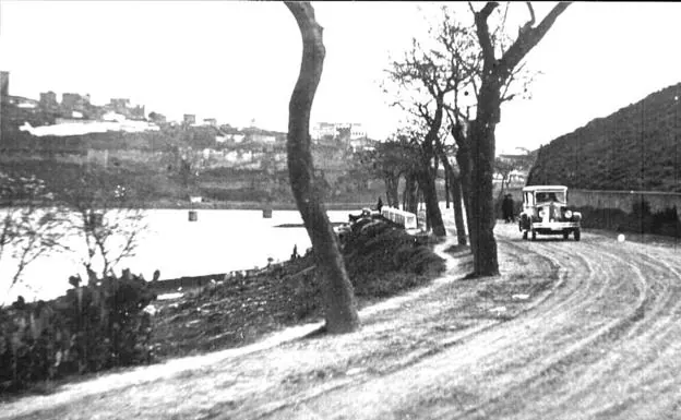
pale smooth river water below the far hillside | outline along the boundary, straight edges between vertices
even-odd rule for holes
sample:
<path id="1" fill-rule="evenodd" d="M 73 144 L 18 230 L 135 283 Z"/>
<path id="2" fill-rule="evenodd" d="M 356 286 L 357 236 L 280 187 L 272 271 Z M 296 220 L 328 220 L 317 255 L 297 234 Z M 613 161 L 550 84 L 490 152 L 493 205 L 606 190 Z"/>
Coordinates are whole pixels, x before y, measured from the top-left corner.
<path id="1" fill-rule="evenodd" d="M 140 236 L 135 254 L 122 260 L 117 274 L 129 267 L 135 274 L 152 279 L 155 269 L 160 279 L 200 276 L 237 269 L 262 267 L 267 259 L 288 260 L 294 245 L 300 254 L 310 247 L 302 227 L 277 227 L 301 224 L 297 211 L 274 211 L 263 218 L 261 211 L 199 209 L 198 220 L 189 221 L 188 209 L 151 209 L 144 212 L 146 228 Z M 347 221 L 353 211 L 328 211 L 331 221 Z M 0 267 L 0 303 L 7 304 L 19 295 L 27 301 L 51 299 L 71 286 L 69 276 L 80 274 L 86 279 L 83 257 L 86 249 L 82 239 L 65 238 L 74 251 L 43 255 L 24 272 L 22 281 L 9 288 L 12 262 L 3 259 Z"/>

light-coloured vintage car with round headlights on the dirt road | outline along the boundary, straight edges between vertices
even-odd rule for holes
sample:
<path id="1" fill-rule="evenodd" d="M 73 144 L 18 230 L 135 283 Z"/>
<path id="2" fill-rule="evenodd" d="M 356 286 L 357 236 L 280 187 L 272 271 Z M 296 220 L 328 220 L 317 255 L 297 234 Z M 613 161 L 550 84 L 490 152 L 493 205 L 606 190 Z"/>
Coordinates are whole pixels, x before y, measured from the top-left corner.
<path id="1" fill-rule="evenodd" d="M 568 239 L 574 233 L 575 241 L 581 237 L 582 214 L 568 207 L 568 187 L 563 185 L 533 185 L 523 189 L 523 213 L 518 228 L 523 239 L 531 233 L 531 240 L 537 235 L 562 235 Z"/>

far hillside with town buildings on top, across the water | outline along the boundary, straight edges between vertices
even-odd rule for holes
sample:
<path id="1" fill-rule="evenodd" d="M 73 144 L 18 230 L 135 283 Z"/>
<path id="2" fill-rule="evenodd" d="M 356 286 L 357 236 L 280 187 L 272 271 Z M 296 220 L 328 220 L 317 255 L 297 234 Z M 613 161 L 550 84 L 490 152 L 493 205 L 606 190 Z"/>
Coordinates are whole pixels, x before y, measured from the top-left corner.
<path id="1" fill-rule="evenodd" d="M 202 121 L 187 113 L 170 121 L 128 98 L 92 104 L 89 95 L 10 94 L 1 72 L 0 148 L 5 168 L 44 178 L 55 191 L 83 169 L 132 185 L 141 206 L 182 206 L 201 201 L 292 203 L 286 166 L 286 133 Z M 374 201 L 382 185 L 360 170 L 358 153 L 375 143 L 361 123 L 321 122 L 312 128 L 312 153 L 328 199 Z M 50 168 L 40 165 L 49 160 Z M 49 171 L 49 173 L 48 173 Z M 58 176 L 55 177 L 55 173 Z"/>

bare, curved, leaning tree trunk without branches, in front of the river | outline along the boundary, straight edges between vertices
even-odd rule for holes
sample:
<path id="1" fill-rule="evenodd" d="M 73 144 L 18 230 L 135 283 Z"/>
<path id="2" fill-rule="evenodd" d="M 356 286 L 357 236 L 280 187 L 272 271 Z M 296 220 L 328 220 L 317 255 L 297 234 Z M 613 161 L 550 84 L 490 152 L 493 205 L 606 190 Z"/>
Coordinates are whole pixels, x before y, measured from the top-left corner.
<path id="1" fill-rule="evenodd" d="M 300 74 L 289 103 L 286 148 L 290 184 L 321 276 L 326 331 L 348 333 L 359 328 L 357 304 L 336 235 L 314 185 L 310 152 L 310 110 L 325 55 L 322 27 L 316 23 L 310 3 L 287 2 L 286 5 L 296 17 L 302 36 Z"/>

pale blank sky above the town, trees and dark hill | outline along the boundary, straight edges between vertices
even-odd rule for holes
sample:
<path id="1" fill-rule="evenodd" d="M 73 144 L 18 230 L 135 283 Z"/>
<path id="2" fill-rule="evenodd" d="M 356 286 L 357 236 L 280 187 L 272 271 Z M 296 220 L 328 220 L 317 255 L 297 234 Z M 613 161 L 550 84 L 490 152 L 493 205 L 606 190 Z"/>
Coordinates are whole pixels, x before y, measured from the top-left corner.
<path id="1" fill-rule="evenodd" d="M 382 93 L 391 57 L 427 27 L 414 2 L 313 2 L 326 58 L 312 122 L 359 122 L 385 139 L 401 115 Z M 440 3 L 430 3 L 438 7 Z M 476 8 L 480 5 L 474 3 Z M 551 3 L 536 3 L 541 19 Z M 527 17 L 524 3 L 510 10 Z M 457 9 L 470 19 L 467 8 Z M 537 148 L 681 82 L 681 3 L 576 2 L 526 57 L 531 99 L 504 104 L 498 153 Z M 130 98 L 179 120 L 286 131 L 301 40 L 282 3 L 0 0 L 0 70 L 10 94 Z"/>

